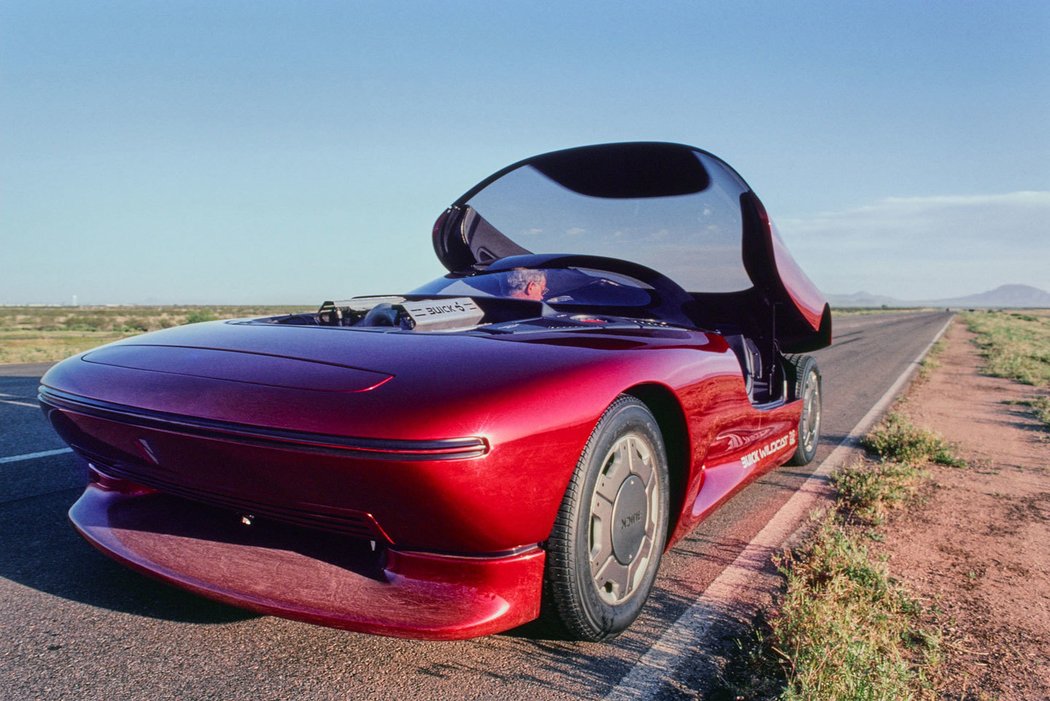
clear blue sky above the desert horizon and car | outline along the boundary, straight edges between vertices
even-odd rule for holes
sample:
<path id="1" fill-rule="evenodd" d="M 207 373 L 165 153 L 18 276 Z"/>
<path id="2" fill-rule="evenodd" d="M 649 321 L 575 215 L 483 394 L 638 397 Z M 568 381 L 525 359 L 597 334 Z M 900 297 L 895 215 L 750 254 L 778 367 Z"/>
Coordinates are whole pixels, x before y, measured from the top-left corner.
<path id="1" fill-rule="evenodd" d="M 706 148 L 828 293 L 1050 289 L 1050 3 L 0 4 L 0 303 L 441 275 L 521 157 Z"/>

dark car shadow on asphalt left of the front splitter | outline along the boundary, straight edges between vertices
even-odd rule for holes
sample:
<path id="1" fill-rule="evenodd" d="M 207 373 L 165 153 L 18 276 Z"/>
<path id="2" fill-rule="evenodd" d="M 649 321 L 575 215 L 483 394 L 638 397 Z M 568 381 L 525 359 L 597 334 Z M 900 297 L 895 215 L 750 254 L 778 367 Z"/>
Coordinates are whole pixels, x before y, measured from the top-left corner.
<path id="1" fill-rule="evenodd" d="M 0 506 L 0 577 L 100 609 L 191 623 L 256 614 L 183 592 L 121 567 L 85 543 L 66 518 L 80 489 Z"/>

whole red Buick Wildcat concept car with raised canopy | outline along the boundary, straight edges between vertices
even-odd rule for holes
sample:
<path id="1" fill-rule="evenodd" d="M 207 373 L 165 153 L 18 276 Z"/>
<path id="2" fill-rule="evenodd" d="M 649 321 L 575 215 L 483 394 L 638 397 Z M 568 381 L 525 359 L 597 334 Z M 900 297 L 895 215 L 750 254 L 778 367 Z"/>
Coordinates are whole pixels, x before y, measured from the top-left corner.
<path id="1" fill-rule="evenodd" d="M 207 597 L 466 638 L 637 617 L 663 552 L 820 430 L 831 311 L 758 197 L 675 144 L 514 164 L 434 227 L 445 277 L 70 358 L 40 402 L 69 517 Z M 786 355 L 791 354 L 791 355 Z"/>

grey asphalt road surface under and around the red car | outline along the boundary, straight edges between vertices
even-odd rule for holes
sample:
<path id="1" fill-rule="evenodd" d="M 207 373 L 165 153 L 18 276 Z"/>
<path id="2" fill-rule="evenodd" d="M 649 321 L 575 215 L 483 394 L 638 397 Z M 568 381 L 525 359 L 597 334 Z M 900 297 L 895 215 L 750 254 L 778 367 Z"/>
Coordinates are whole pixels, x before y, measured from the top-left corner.
<path id="1" fill-rule="evenodd" d="M 825 456 L 941 328 L 941 313 L 848 316 L 815 354 Z M 525 626 L 457 642 L 357 635 L 257 616 L 132 573 L 84 543 L 65 513 L 69 453 L 36 407 L 46 366 L 0 366 L 0 698 L 600 698 L 731 562 L 811 468 L 748 487 L 675 547 L 639 621 L 607 643 Z M 669 684 L 668 696 L 673 696 Z"/>

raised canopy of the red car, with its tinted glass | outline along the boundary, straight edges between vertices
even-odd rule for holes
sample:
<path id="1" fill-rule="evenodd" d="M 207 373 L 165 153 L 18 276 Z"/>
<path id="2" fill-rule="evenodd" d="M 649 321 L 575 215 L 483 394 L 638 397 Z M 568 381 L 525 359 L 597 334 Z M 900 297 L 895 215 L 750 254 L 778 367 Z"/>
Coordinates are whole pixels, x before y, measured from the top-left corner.
<path id="1" fill-rule="evenodd" d="M 434 248 L 453 273 L 526 254 L 629 260 L 700 304 L 775 314 L 784 349 L 831 341 L 826 300 L 761 201 L 726 163 L 690 146 L 605 144 L 526 158 L 457 199 L 435 225 Z"/>

